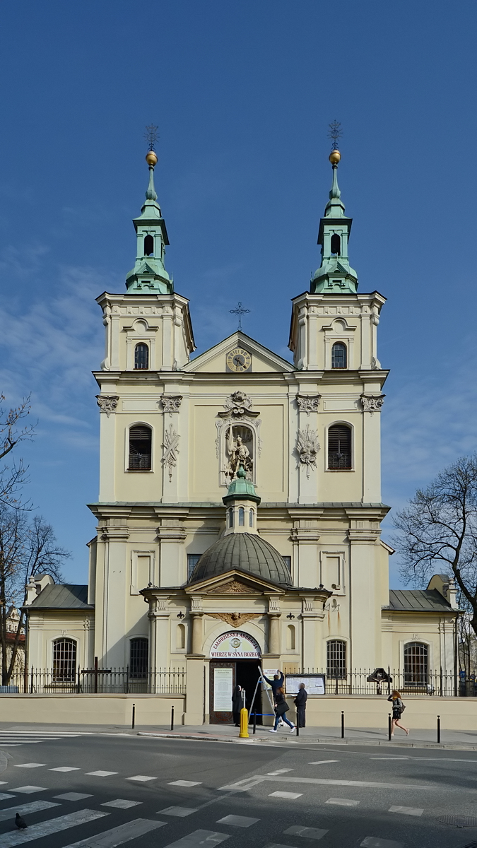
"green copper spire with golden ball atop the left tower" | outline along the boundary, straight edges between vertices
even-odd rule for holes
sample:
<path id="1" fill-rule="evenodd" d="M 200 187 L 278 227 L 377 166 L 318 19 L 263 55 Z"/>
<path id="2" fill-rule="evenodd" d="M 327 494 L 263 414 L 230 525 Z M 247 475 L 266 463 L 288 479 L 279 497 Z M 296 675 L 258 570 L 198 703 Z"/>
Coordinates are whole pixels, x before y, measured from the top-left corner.
<path id="1" fill-rule="evenodd" d="M 149 165 L 149 186 L 141 215 L 132 219 L 137 235 L 137 255 L 134 268 L 126 276 L 126 288 L 128 293 L 135 294 L 171 294 L 174 283 L 164 267 L 169 238 L 154 187 L 154 166 L 157 163 L 154 150 L 149 150 L 146 162 Z"/>

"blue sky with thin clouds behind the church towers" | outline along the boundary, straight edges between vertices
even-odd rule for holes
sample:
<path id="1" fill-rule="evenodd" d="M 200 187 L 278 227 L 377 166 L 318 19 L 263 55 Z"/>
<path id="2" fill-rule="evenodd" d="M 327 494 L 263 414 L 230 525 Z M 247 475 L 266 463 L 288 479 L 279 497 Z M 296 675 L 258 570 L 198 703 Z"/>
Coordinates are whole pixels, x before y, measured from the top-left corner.
<path id="1" fill-rule="evenodd" d="M 133 265 L 146 124 L 199 352 L 242 300 L 245 332 L 289 356 L 340 120 L 351 265 L 388 298 L 384 501 L 474 450 L 476 25 L 474 2 L 435 0 L 2 4 L 0 388 L 32 393 L 30 494 L 70 582 L 87 579 L 98 494 L 94 298 Z"/>

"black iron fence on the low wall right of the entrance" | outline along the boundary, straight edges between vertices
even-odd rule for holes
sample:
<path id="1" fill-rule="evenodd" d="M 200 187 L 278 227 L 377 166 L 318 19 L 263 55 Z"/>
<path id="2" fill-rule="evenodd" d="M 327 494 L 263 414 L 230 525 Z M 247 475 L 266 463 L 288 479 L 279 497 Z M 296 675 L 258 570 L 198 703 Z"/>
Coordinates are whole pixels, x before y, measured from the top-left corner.
<path id="1" fill-rule="evenodd" d="M 329 671 L 329 669 L 328 669 Z M 401 694 L 409 695 L 458 695 L 477 696 L 477 679 L 465 678 L 462 674 L 438 671 L 418 672 L 412 674 L 401 668 L 387 669 L 355 668 L 346 670 L 340 668 L 338 673 L 328 673 L 319 668 L 283 667 L 285 674 L 304 675 L 319 674 L 324 678 L 326 695 L 390 695 L 393 689 Z M 378 672 L 378 673 L 376 673 Z"/>

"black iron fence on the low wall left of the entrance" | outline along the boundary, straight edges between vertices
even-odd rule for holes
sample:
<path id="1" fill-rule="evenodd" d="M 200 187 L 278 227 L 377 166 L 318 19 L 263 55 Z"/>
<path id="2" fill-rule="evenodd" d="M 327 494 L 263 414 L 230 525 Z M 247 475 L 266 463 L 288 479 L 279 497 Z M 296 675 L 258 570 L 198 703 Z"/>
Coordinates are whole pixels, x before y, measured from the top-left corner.
<path id="1" fill-rule="evenodd" d="M 132 676 L 134 675 L 134 676 Z M 53 668 L 34 668 L 15 672 L 4 691 L 43 695 L 185 695 L 187 672 L 184 668 L 160 668 L 137 677 L 126 668 L 81 669 L 59 673 Z"/>

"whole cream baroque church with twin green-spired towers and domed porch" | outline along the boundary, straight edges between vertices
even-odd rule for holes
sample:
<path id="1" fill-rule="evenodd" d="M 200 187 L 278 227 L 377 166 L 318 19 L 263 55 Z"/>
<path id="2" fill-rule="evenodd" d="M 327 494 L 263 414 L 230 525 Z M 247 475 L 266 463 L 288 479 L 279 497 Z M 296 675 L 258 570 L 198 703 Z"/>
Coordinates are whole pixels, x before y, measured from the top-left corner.
<path id="1" fill-rule="evenodd" d="M 193 724 L 231 717 L 232 686 L 253 690 L 259 662 L 344 682 L 353 669 L 390 666 L 421 686 L 432 670 L 454 672 L 452 581 L 389 589 L 385 298 L 358 291 L 339 151 L 329 159 L 322 261 L 292 301 L 292 364 L 241 331 L 191 358 L 189 303 L 166 271 L 148 153 L 135 265 L 125 291 L 98 297 L 105 353 L 94 372 L 100 480 L 88 584 L 31 579 L 29 667 L 74 683 L 97 657 L 144 692 L 185 672 L 183 721 Z"/>

